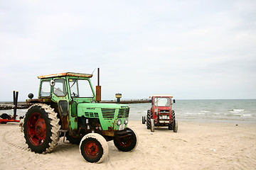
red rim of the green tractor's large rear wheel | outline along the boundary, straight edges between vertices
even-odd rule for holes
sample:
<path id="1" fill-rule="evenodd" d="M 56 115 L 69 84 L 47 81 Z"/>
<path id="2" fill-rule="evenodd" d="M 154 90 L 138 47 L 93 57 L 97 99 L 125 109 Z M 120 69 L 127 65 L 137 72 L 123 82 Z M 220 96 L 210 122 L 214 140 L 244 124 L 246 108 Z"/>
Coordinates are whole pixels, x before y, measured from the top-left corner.
<path id="1" fill-rule="evenodd" d="M 28 138 L 35 146 L 42 145 L 46 140 L 46 121 L 39 113 L 33 113 L 28 118 Z"/>

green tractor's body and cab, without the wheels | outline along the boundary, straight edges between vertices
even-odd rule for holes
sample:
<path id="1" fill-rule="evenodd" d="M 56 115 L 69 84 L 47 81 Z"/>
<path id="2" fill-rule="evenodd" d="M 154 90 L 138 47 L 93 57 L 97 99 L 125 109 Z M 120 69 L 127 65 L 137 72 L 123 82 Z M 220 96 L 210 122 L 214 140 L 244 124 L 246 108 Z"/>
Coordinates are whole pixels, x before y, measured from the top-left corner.
<path id="1" fill-rule="evenodd" d="M 119 103 L 97 103 L 90 81 L 91 74 L 51 74 L 41 79 L 38 100 L 55 108 L 63 130 L 81 136 L 98 130 L 114 136 L 114 131 L 127 128 L 129 106 Z M 35 99 L 27 100 L 34 103 Z M 49 102 L 50 101 L 50 102 Z M 117 120 L 121 123 L 117 125 Z M 125 122 L 125 123 L 124 123 Z"/>

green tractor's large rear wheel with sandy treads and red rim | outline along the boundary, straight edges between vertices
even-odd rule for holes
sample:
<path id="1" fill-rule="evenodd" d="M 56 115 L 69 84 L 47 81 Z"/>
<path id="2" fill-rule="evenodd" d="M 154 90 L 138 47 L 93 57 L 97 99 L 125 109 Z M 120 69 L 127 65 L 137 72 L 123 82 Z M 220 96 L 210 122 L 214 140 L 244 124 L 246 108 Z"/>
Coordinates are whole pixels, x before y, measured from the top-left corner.
<path id="1" fill-rule="evenodd" d="M 59 140 L 59 121 L 53 108 L 44 103 L 36 103 L 28 108 L 23 132 L 31 151 L 36 153 L 53 151 Z"/>

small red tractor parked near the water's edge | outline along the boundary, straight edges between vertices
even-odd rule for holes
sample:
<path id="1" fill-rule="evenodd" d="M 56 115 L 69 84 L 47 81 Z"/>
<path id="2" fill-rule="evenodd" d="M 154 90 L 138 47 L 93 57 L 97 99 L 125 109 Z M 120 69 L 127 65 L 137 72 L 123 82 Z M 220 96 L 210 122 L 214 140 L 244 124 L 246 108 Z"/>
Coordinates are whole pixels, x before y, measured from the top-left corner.
<path id="1" fill-rule="evenodd" d="M 147 111 L 146 118 L 142 116 L 142 123 L 146 123 L 146 128 L 154 132 L 155 127 L 168 126 L 169 130 L 178 131 L 178 121 L 172 104 L 175 99 L 170 95 L 156 94 L 151 98 L 151 109 Z"/>

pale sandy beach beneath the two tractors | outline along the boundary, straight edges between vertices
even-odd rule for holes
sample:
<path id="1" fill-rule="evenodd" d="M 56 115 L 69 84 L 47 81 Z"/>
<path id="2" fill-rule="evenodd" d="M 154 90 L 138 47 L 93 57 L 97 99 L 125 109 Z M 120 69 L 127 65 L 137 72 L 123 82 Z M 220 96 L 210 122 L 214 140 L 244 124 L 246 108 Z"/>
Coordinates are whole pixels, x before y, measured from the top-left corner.
<path id="1" fill-rule="evenodd" d="M 256 169 L 256 125 L 179 122 L 178 132 L 129 127 L 139 136 L 134 152 L 119 152 L 112 141 L 101 164 L 85 162 L 78 145 L 63 142 L 50 154 L 31 152 L 18 123 L 0 125 L 0 169 Z"/>

